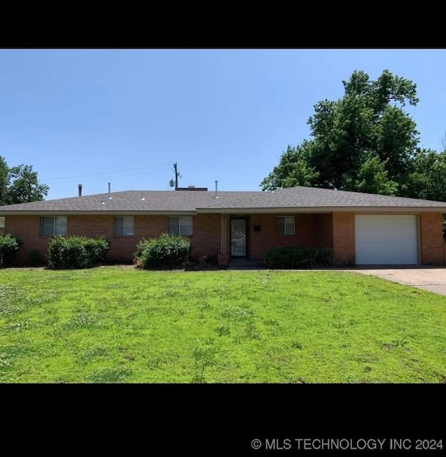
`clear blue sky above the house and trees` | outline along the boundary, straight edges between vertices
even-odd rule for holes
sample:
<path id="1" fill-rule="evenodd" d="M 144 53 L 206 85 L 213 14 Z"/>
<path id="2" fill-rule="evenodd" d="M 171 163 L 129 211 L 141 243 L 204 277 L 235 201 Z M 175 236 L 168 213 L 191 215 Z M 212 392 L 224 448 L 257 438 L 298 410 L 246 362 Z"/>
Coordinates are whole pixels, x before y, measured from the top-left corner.
<path id="1" fill-rule="evenodd" d="M 420 145 L 446 130 L 446 49 L 0 49 L 0 155 L 47 199 L 180 186 L 260 190 L 313 105 L 354 70 L 417 84 Z"/>

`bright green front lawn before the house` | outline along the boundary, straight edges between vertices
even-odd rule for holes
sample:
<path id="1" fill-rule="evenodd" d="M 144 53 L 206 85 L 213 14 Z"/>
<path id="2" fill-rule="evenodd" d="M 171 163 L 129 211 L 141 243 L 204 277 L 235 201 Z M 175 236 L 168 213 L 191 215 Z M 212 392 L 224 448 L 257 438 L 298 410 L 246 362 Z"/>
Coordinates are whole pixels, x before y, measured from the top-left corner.
<path id="1" fill-rule="evenodd" d="M 0 382 L 445 382 L 445 329 L 349 272 L 0 270 Z"/>

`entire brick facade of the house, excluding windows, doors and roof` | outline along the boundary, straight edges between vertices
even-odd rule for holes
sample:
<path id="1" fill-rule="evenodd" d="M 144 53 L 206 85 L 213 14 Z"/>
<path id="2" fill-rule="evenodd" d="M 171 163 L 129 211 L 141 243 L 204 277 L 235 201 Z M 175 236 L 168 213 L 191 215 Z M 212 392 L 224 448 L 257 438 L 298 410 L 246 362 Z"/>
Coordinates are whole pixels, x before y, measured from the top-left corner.
<path id="1" fill-rule="evenodd" d="M 277 215 L 249 215 L 247 255 L 262 259 L 272 247 L 304 246 L 333 247 L 337 265 L 355 264 L 355 214 L 333 212 L 327 214 L 295 214 L 295 235 L 277 235 Z M 420 215 L 420 253 L 422 263 L 446 261 L 446 245 L 443 242 L 443 215 L 426 212 Z M 214 257 L 220 251 L 220 214 L 200 214 L 193 217 L 193 235 L 189 238 L 194 248 L 192 256 Z M 226 218 L 226 245 L 231 252 L 231 216 Z M 254 231 L 260 224 L 261 231 Z M 5 219 L 5 231 L 24 241 L 17 263 L 25 263 L 29 251 L 47 254 L 50 237 L 40 236 L 40 216 L 9 215 Z M 134 216 L 134 235 L 114 235 L 113 215 L 69 215 L 68 235 L 89 237 L 104 236 L 110 240 L 109 258 L 114 261 L 131 261 L 137 242 L 141 238 L 153 238 L 167 231 L 167 216 Z"/>

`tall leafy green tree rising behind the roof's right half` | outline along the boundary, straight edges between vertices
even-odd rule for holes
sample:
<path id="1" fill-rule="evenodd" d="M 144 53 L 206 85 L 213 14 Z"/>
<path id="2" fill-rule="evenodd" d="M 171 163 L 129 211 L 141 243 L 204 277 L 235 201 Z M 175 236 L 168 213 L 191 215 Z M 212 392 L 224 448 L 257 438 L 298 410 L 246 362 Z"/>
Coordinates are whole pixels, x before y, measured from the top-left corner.
<path id="1" fill-rule="evenodd" d="M 389 70 L 375 81 L 355 71 L 343 84 L 343 98 L 314 105 L 308 120 L 312 138 L 295 148 L 289 146 L 262 181 L 263 190 L 316 185 L 406 194 L 419 140 L 416 124 L 404 107 L 419 101 L 416 85 Z"/>

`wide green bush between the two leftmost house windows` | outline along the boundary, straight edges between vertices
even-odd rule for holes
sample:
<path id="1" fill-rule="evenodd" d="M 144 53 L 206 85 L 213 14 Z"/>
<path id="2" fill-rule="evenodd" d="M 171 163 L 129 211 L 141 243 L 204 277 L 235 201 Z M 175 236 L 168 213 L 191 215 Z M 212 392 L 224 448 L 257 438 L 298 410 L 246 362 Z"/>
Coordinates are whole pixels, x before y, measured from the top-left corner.
<path id="1" fill-rule="evenodd" d="M 101 263 L 109 249 L 105 238 L 56 236 L 49 243 L 49 265 L 55 270 L 92 268 Z"/>

